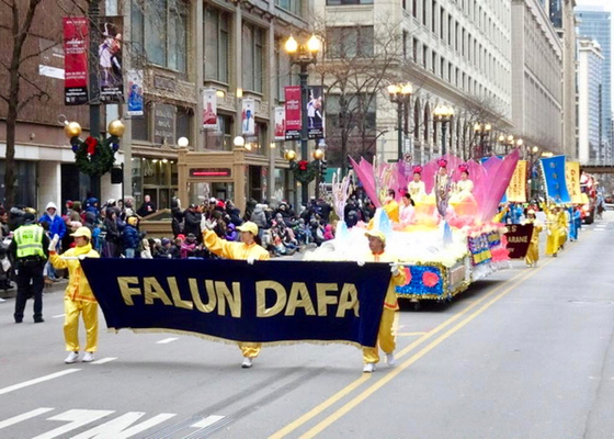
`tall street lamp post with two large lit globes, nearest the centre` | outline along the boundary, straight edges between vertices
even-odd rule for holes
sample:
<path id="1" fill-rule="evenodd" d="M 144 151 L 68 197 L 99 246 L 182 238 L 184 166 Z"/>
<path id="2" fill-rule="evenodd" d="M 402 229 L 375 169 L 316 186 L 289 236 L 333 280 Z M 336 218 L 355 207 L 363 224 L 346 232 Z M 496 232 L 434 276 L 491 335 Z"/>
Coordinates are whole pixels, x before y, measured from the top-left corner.
<path id="1" fill-rule="evenodd" d="M 298 44 L 298 42 L 291 35 L 289 38 L 287 38 L 284 48 L 291 57 L 291 63 L 299 66 L 300 68 L 300 101 L 303 106 L 300 109 L 300 156 L 303 160 L 307 160 L 307 143 L 309 140 L 307 111 L 305 111 L 305 104 L 309 100 L 309 90 L 307 88 L 309 74 L 307 72 L 307 67 L 309 67 L 310 64 L 316 64 L 318 53 L 321 49 L 321 42 L 316 35 L 311 35 L 307 43 Z M 303 184 L 300 188 L 300 198 L 304 203 L 307 203 L 309 199 L 309 185 Z"/>

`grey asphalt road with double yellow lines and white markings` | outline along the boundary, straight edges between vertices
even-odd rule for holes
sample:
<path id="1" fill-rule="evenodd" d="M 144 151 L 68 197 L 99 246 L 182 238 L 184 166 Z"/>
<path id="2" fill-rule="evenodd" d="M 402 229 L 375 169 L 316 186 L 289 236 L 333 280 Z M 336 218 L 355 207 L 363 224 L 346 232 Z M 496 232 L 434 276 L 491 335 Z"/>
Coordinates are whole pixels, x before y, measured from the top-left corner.
<path id="1" fill-rule="evenodd" d="M 99 363 L 66 365 L 61 288 L 44 324 L 29 304 L 15 325 L 9 300 L 0 438 L 613 438 L 613 256 L 607 212 L 536 269 L 408 307 L 399 365 L 372 375 L 346 346 L 264 349 L 242 370 L 234 346 L 104 328 Z"/>

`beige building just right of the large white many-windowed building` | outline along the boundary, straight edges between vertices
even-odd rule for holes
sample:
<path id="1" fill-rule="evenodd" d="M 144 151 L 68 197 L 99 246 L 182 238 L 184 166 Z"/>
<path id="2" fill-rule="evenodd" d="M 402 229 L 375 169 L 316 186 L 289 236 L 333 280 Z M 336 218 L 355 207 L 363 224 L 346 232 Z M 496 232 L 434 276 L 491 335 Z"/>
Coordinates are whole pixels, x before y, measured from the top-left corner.
<path id="1" fill-rule="evenodd" d="M 562 44 L 544 3 L 512 0 L 512 119 L 525 143 L 562 154 Z"/>

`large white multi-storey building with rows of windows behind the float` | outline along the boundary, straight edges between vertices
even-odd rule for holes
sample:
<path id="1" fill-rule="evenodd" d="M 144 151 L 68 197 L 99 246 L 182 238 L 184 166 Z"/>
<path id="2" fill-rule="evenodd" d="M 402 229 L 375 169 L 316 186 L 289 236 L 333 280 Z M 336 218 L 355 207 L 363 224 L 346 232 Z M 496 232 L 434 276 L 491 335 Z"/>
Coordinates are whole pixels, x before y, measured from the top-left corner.
<path id="1" fill-rule="evenodd" d="M 382 160 L 398 158 L 397 104 L 391 103 L 386 93 L 386 86 L 390 83 L 413 86 L 409 102 L 401 105 L 401 149 L 411 155 L 414 162 L 424 162 L 442 154 L 442 140 L 446 153 L 475 157 L 479 142 L 474 133 L 476 123 L 512 130 L 509 2 L 316 0 L 316 13 L 322 18 L 327 34 L 333 30 L 333 35 L 338 35 L 327 44 L 346 40 L 342 45 L 350 46 L 351 42 L 359 42 L 357 46 L 366 50 L 363 55 L 369 60 L 377 58 L 378 50 L 397 58 L 393 63 L 395 69 L 383 74 L 383 80 L 369 90 L 376 101 L 372 103 L 372 112 L 377 155 Z M 355 55 L 360 52 L 351 54 Z M 336 56 L 323 61 L 343 64 Z M 378 63 L 386 63 L 384 56 Z M 329 90 L 333 100 L 339 99 L 334 98 L 336 92 L 339 91 L 334 88 Z M 433 117 L 439 104 L 450 105 L 455 113 L 446 126 L 445 139 L 441 124 Z M 328 120 L 331 113 L 334 111 L 327 108 Z M 497 130 L 493 130 L 486 139 L 488 148 L 497 146 L 496 138 Z"/>

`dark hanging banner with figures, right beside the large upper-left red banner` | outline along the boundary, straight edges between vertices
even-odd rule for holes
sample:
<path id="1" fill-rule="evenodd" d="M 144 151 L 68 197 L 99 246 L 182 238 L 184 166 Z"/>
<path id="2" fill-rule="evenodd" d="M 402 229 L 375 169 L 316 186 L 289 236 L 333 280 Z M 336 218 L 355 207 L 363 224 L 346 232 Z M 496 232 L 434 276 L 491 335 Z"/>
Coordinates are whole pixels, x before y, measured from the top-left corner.
<path id="1" fill-rule="evenodd" d="M 98 48 L 100 100 L 103 103 L 124 102 L 124 74 L 122 70 L 123 16 L 100 19 L 102 31 Z"/>

